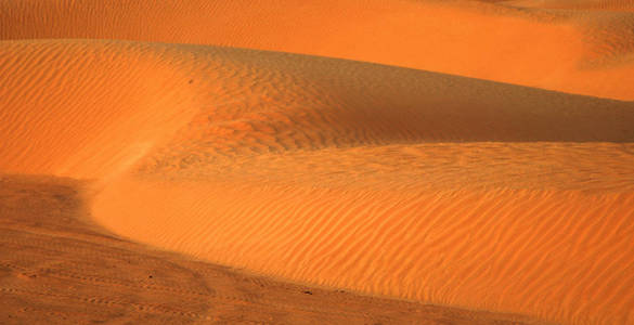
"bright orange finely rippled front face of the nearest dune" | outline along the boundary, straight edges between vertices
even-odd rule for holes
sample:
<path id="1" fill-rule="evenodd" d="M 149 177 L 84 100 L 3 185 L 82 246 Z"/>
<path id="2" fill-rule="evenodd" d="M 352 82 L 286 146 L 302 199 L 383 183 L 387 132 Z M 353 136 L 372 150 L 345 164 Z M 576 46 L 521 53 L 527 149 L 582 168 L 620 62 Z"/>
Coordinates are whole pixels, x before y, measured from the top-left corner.
<path id="1" fill-rule="evenodd" d="M 282 278 L 571 324 L 627 324 L 633 204 L 631 193 L 124 180 L 98 197 L 93 213 L 137 240 Z"/>

